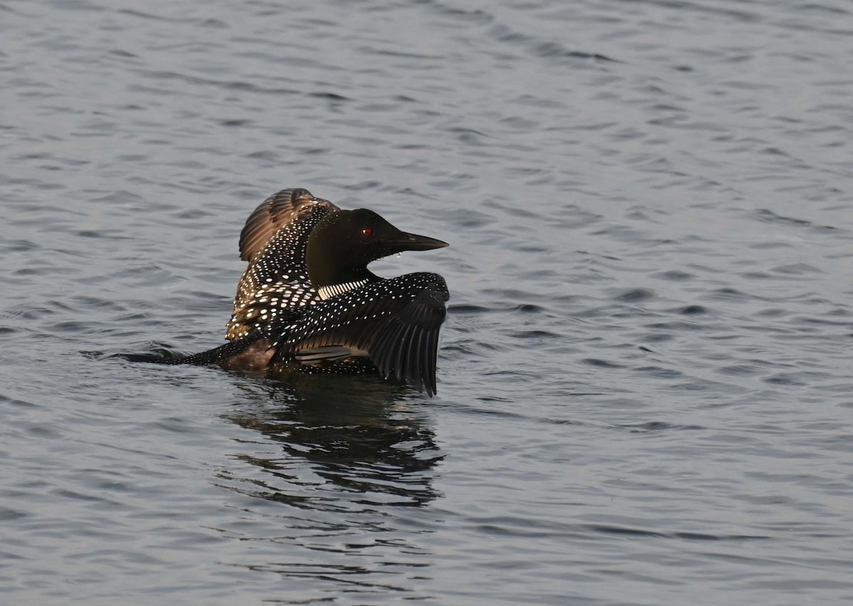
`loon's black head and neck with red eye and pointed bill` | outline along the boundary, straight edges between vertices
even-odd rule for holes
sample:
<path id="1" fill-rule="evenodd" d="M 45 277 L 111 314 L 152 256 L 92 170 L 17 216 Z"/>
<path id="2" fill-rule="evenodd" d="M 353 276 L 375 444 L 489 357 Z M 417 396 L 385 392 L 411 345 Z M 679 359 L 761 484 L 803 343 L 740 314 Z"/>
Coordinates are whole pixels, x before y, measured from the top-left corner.
<path id="1" fill-rule="evenodd" d="M 429 251 L 447 242 L 395 228 L 374 211 L 335 211 L 311 230 L 305 257 L 316 288 L 374 277 L 368 263 L 402 251 Z"/>

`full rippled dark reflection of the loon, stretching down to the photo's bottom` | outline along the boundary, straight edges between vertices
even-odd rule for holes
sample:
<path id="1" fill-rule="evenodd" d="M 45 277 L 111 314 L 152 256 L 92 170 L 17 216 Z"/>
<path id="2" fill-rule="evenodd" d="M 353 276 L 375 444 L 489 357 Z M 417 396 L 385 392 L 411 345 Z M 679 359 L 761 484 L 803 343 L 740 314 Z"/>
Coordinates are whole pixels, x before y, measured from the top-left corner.
<path id="1" fill-rule="evenodd" d="M 426 398 L 375 375 L 235 383 L 245 394 L 223 418 L 251 431 L 215 483 L 247 499 L 217 530 L 255 545 L 232 564 L 287 578 L 299 603 L 341 592 L 372 603 L 389 589 L 428 598 L 417 587 L 435 557 L 421 538 L 438 521 L 421 505 L 438 496 L 442 455 Z"/>

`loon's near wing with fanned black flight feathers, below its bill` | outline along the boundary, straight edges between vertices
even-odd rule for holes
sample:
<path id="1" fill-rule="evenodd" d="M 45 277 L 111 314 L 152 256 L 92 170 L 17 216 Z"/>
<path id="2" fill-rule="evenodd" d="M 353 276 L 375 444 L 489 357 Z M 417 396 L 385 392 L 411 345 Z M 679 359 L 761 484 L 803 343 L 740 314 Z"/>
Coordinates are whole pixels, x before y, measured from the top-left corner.
<path id="1" fill-rule="evenodd" d="M 285 326 L 274 361 L 318 364 L 366 355 L 385 377 L 436 393 L 438 330 L 449 298 L 438 274 L 371 282 L 326 301 Z"/>

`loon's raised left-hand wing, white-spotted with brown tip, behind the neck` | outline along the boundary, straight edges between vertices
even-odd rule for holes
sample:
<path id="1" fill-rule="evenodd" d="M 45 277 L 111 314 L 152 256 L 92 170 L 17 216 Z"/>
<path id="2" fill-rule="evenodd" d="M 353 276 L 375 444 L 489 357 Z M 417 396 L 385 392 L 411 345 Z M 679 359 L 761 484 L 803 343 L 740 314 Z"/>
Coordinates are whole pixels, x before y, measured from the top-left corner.
<path id="1" fill-rule="evenodd" d="M 245 337 L 252 327 L 276 330 L 282 315 L 289 319 L 290 312 L 318 300 L 308 280 L 305 249 L 311 230 L 335 210 L 305 189 L 285 189 L 252 212 L 241 235 L 241 251 L 252 251 L 252 257 L 237 285 L 225 338 Z"/>

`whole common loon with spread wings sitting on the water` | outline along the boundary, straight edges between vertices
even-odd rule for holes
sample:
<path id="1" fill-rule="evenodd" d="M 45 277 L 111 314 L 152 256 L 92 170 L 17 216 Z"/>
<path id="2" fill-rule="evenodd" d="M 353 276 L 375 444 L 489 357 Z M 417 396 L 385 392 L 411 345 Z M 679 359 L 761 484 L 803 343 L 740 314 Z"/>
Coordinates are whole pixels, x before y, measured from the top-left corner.
<path id="1" fill-rule="evenodd" d="M 240 237 L 243 272 L 226 343 L 171 364 L 368 372 L 436 393 L 438 330 L 450 297 L 438 274 L 380 278 L 368 263 L 447 246 L 374 211 L 342 211 L 302 188 L 258 205 Z"/>

